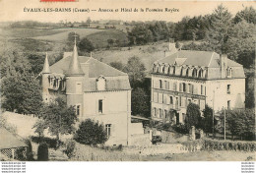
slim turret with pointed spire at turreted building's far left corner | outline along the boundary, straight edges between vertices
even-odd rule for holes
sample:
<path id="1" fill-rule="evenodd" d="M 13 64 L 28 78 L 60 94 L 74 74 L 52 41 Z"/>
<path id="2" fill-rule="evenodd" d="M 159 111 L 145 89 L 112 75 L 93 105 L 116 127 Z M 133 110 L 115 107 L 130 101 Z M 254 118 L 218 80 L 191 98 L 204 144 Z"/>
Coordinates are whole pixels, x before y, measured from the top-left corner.
<path id="1" fill-rule="evenodd" d="M 45 60 L 44 60 L 44 65 L 43 65 L 43 69 L 41 72 L 41 84 L 42 84 L 42 100 L 44 102 L 49 102 L 49 77 L 50 74 L 50 66 L 49 66 L 49 61 L 48 61 L 48 55 L 46 52 L 45 55 Z"/>

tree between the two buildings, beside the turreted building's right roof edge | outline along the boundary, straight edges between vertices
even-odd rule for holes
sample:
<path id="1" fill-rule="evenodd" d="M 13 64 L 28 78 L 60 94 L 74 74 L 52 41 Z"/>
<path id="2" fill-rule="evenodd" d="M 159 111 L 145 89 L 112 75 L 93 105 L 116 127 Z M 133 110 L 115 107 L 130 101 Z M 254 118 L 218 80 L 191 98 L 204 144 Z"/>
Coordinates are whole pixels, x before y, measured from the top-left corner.
<path id="1" fill-rule="evenodd" d="M 145 65 L 138 57 L 134 56 L 129 58 L 127 65 L 124 68 L 124 72 L 129 75 L 131 87 L 136 87 L 138 82 L 143 82 L 146 76 L 145 71 Z"/>

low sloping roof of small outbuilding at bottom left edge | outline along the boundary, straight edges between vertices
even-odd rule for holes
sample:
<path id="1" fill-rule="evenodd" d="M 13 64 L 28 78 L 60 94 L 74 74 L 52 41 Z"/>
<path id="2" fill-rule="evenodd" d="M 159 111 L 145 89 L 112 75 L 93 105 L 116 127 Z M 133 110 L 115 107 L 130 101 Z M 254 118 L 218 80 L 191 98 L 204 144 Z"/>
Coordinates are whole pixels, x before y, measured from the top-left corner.
<path id="1" fill-rule="evenodd" d="M 28 146 L 4 128 L 0 128 L 0 141 L 0 149 Z"/>

